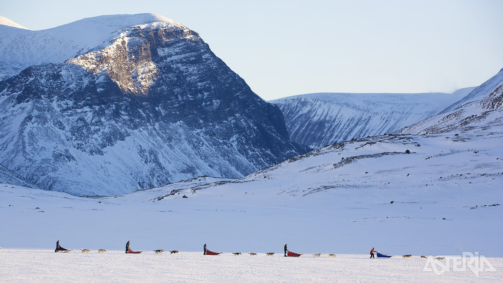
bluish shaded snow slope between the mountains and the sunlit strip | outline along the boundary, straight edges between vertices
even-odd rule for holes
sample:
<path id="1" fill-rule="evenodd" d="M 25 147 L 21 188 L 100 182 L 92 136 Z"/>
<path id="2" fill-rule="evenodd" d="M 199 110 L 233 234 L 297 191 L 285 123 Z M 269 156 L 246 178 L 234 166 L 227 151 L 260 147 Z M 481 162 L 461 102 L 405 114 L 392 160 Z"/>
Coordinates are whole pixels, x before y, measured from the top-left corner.
<path id="1" fill-rule="evenodd" d="M 459 135 L 374 136 L 241 179 L 202 176 L 100 199 L 0 186 L 0 214 L 10 228 L 0 230 L 0 238 L 8 247 L 49 249 L 53 239 L 63 239 L 65 248 L 110 248 L 122 255 L 131 240 L 132 248 L 146 251 L 202 253 L 208 243 L 226 254 L 281 257 L 287 243 L 311 259 L 315 253 L 368 257 L 372 247 L 397 260 L 464 251 L 498 256 L 501 138 L 501 126 Z M 54 221 L 60 215 L 71 219 L 65 229 Z"/>

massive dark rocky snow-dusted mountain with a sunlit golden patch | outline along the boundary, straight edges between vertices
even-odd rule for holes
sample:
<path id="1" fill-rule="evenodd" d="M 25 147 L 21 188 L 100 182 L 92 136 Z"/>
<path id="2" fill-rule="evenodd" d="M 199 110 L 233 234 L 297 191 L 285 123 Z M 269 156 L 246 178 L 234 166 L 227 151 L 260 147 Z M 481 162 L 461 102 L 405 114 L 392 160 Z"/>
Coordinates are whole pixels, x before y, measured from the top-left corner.
<path id="1" fill-rule="evenodd" d="M 196 32 L 162 16 L 0 29 L 0 61 L 29 65 L 0 82 L 0 163 L 41 188 L 238 178 L 310 150 Z"/>

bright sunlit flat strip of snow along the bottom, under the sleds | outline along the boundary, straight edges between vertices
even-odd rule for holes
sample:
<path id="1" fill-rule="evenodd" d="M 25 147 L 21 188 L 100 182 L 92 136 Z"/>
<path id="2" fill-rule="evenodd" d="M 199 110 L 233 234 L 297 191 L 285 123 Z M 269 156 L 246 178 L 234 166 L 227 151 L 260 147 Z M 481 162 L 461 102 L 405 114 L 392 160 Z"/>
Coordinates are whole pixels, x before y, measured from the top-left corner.
<path id="1" fill-rule="evenodd" d="M 496 272 L 423 271 L 426 260 L 413 256 L 368 258 L 367 254 L 338 254 L 336 258 L 311 254 L 297 258 L 202 252 L 179 254 L 54 253 L 52 250 L 2 250 L 3 282 L 477 282 L 503 281 L 503 259 L 488 258 Z"/>

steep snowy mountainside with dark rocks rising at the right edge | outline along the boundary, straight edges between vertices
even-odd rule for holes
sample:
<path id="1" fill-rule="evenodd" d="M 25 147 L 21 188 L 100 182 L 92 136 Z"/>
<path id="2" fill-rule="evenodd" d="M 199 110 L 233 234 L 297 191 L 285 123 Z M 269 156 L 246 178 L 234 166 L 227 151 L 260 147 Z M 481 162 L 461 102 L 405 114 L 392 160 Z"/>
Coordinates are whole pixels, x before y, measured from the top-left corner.
<path id="1" fill-rule="evenodd" d="M 397 131 L 405 134 L 463 132 L 503 125 L 503 69 L 440 114 Z"/>

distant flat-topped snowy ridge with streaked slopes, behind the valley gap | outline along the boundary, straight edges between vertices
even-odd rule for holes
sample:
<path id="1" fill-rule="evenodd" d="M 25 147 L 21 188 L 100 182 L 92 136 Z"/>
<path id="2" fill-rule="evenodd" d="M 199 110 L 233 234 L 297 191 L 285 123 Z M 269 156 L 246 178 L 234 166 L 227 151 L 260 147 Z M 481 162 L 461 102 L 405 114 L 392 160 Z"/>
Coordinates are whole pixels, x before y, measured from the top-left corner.
<path id="1" fill-rule="evenodd" d="M 311 148 L 381 135 L 438 114 L 474 88 L 446 93 L 314 93 L 269 101 L 290 138 Z"/>

